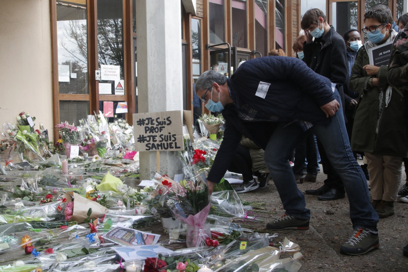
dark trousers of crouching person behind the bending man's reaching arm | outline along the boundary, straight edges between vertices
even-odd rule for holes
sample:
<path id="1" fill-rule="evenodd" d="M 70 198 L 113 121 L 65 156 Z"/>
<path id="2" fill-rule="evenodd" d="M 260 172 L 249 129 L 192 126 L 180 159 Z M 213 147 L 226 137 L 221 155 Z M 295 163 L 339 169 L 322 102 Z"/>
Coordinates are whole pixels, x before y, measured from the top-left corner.
<path id="1" fill-rule="evenodd" d="M 228 171 L 242 174 L 244 182 L 251 181 L 252 177 L 252 159 L 249 149 L 239 145 L 235 152 L 234 159 L 228 167 Z"/>

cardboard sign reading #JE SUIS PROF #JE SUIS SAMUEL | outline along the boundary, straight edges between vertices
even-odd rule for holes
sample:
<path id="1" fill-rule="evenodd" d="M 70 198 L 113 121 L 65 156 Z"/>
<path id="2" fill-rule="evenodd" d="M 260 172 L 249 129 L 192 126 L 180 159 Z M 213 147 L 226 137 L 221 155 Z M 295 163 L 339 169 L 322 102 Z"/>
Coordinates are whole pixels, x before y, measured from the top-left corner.
<path id="1" fill-rule="evenodd" d="M 182 111 L 133 114 L 136 151 L 179 151 L 184 148 Z"/>

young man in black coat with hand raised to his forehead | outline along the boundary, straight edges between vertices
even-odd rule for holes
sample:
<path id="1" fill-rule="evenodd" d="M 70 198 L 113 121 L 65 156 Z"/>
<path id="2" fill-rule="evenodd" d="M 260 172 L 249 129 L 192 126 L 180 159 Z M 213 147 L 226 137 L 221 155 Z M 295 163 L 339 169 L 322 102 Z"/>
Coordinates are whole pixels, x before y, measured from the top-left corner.
<path id="1" fill-rule="evenodd" d="M 320 9 L 309 9 L 302 17 L 300 26 L 305 31 L 303 44 L 304 62 L 316 73 L 336 84 L 344 110 L 343 86 L 347 83 L 346 45 L 343 38 L 326 22 L 326 15 Z M 312 39 L 314 41 L 312 41 Z M 345 120 L 346 116 L 344 116 Z M 324 185 L 316 190 L 306 190 L 306 194 L 319 195 L 319 200 L 344 198 L 344 184 L 317 137 L 323 172 L 327 175 Z"/>

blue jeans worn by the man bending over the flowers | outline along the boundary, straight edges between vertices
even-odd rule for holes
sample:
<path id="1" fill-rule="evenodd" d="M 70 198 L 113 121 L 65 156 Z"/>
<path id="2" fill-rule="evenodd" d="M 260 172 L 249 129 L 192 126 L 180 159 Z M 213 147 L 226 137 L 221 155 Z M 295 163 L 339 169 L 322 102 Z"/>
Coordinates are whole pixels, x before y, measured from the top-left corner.
<path id="1" fill-rule="evenodd" d="M 337 91 L 335 97 L 340 101 Z M 290 169 L 288 157 L 291 151 L 308 133 L 314 133 L 324 146 L 328 158 L 344 181 L 350 202 L 350 219 L 353 228 L 377 230 L 378 215 L 370 203 L 366 178 L 353 156 L 341 110 L 331 117 L 327 126 L 314 125 L 304 132 L 297 123 L 280 124 L 266 146 L 264 160 L 279 192 L 286 214 L 308 219 L 310 210 L 306 208 L 304 195 L 297 188 L 295 176 Z"/>

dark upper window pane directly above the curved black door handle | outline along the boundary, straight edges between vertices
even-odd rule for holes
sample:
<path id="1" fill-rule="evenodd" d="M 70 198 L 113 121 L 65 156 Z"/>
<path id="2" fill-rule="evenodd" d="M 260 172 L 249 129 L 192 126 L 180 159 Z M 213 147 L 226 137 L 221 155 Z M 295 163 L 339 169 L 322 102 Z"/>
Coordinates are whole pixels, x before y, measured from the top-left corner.
<path id="1" fill-rule="evenodd" d="M 209 0 L 210 43 L 225 41 L 225 8 L 224 0 Z"/>

